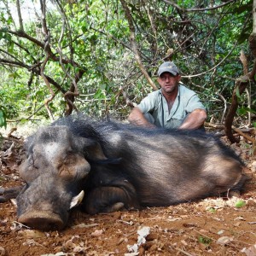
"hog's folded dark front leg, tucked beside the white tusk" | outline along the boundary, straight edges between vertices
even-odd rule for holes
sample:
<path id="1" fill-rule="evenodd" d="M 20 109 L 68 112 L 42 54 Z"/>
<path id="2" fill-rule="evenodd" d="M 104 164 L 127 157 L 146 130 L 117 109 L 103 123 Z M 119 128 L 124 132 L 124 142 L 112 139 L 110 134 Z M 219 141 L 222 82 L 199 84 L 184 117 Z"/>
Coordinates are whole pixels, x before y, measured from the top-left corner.
<path id="1" fill-rule="evenodd" d="M 139 208 L 139 203 L 136 195 L 119 187 L 97 187 L 90 190 L 84 200 L 84 211 L 90 214 L 116 212 L 124 207 Z"/>

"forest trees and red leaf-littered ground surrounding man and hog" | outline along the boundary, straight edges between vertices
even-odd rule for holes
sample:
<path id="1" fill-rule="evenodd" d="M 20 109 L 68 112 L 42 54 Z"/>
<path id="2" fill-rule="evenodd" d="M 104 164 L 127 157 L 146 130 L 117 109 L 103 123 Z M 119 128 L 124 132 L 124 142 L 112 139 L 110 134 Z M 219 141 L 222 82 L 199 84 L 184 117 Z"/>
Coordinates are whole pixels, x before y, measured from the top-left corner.
<path id="1" fill-rule="evenodd" d="M 125 120 L 170 60 L 206 106 L 207 131 L 240 155 L 251 180 L 238 198 L 73 212 L 67 229 L 47 233 L 1 203 L 0 255 L 255 256 L 255 34 L 255 0 L 1 0 L 0 188 L 23 183 L 28 127 L 77 111 Z"/>

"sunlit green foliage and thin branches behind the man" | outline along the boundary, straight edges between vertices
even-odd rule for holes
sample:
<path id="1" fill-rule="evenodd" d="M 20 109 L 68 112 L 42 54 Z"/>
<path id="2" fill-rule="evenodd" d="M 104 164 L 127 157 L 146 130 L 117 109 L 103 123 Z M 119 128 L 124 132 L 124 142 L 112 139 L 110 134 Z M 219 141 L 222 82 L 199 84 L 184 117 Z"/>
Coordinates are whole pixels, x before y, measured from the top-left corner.
<path id="1" fill-rule="evenodd" d="M 252 62 L 247 38 L 253 27 L 253 0 L 236 1 L 219 9 L 210 9 L 224 3 L 220 0 L 213 2 L 178 0 L 176 4 L 180 9 L 177 9 L 157 0 L 126 1 L 135 28 L 137 49 L 150 77 L 154 79 L 167 50 L 174 49 L 172 60 L 182 71 L 183 83 L 199 93 L 209 116 L 214 115 L 219 120 L 224 111 L 219 95 L 229 104 L 234 79 L 243 73 L 238 60 L 241 50 L 248 56 L 249 63 Z M 3 0 L 3 3 L 10 4 L 10 1 Z M 50 47 L 55 58 L 60 56 L 61 50 L 62 58 L 68 61 L 60 63 L 52 57 L 44 68 L 44 74 L 59 85 L 49 85 L 55 92 L 53 101 L 49 103 L 51 112 L 55 118 L 63 115 L 67 108 L 63 94 L 83 70 L 75 106 L 96 116 L 112 114 L 125 118 L 130 108 L 126 106 L 122 90 L 131 102 L 138 103 L 152 88 L 135 61 L 131 31 L 121 3 L 109 0 L 62 1 L 58 2 L 61 4 L 58 7 L 56 3 L 47 3 Z M 21 3 L 21 7 L 24 4 Z M 39 12 L 39 3 L 34 4 Z M 25 19 L 25 14 L 23 9 L 26 34 L 44 44 L 44 24 L 36 16 L 33 20 Z M 3 65 L 0 67 L 0 98 L 3 99 L 1 104 L 6 119 L 26 119 L 31 115 L 48 118 L 44 101 L 51 95 L 40 77 L 39 68 L 46 57 L 44 47 L 18 32 L 19 24 L 15 17 L 11 12 L 1 10 L 0 59 L 12 61 L 9 66 L 0 61 Z M 244 96 L 239 92 L 237 96 L 241 99 L 237 114 L 243 118 L 247 112 L 254 114 L 254 110 L 247 107 Z"/>

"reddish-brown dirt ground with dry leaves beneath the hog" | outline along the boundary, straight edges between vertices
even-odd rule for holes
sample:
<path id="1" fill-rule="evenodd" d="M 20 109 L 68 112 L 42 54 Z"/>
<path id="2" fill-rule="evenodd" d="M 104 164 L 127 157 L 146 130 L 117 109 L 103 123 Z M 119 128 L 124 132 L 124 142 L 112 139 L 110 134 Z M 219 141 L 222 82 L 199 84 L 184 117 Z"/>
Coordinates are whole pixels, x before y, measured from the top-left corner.
<path id="1" fill-rule="evenodd" d="M 0 187 L 22 183 L 22 147 L 4 141 Z M 252 179 L 239 197 L 214 197 L 171 207 L 88 215 L 75 210 L 61 231 L 31 230 L 16 222 L 16 208 L 0 204 L 3 255 L 256 255 L 256 162 L 251 145 L 233 148 Z M 254 166 L 253 166 L 254 165 Z"/>

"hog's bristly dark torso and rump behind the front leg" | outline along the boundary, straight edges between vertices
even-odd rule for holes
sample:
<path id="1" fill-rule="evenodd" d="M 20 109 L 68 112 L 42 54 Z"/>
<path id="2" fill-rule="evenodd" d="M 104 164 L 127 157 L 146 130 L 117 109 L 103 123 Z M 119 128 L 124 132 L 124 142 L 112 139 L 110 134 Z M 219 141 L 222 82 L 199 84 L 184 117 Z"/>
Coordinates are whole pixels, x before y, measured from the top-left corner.
<path id="1" fill-rule="evenodd" d="M 200 132 L 126 130 L 106 135 L 108 154 L 142 205 L 165 206 L 217 195 L 241 179 L 241 161 L 218 139 Z"/>

